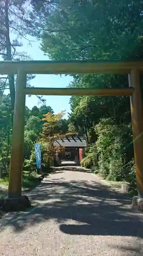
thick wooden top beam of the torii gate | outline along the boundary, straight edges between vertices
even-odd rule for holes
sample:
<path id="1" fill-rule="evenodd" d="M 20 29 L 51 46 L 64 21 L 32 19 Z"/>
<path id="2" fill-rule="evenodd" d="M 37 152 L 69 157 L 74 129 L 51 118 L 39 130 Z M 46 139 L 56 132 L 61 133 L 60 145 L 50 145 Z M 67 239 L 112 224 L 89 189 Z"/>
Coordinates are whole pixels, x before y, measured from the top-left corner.
<path id="1" fill-rule="evenodd" d="M 1 61 L 0 74 L 17 74 L 21 69 L 27 74 L 129 74 L 131 70 L 143 71 L 143 61 L 109 60 L 27 60 Z"/>

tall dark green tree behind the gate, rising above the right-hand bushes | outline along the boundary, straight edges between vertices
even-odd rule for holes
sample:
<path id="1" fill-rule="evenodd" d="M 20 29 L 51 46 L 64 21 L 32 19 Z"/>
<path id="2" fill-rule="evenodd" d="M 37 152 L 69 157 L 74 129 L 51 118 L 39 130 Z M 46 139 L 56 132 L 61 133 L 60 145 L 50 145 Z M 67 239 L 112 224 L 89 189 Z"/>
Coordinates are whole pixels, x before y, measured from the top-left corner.
<path id="1" fill-rule="evenodd" d="M 132 19 L 134 10 L 136 20 Z M 138 1 L 130 4 L 128 1 L 111 1 L 108 5 L 104 0 L 97 1 L 96 5 L 92 1 L 84 5 L 73 0 L 59 1 L 46 18 L 42 50 L 53 59 L 138 58 L 139 51 L 133 51 L 141 45 L 142 28 L 138 10 L 141 14 Z M 129 26 L 131 20 L 132 27 Z M 51 30 L 53 33 L 49 33 Z M 70 87 L 128 87 L 125 75 L 76 75 L 74 78 Z M 83 134 L 88 130 L 92 137 L 93 126 L 101 117 L 112 117 L 116 123 L 130 122 L 127 97 L 72 97 L 71 110 L 70 121 L 76 131 Z M 122 111 L 126 115 L 122 115 Z"/>

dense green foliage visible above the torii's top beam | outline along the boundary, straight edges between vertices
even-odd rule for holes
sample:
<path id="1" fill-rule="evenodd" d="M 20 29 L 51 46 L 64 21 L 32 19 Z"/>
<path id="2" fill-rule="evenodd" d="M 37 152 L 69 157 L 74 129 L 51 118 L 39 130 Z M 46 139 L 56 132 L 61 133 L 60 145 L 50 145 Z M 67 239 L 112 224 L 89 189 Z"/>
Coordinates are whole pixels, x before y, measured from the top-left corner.
<path id="1" fill-rule="evenodd" d="M 142 7 L 142 1 L 58 1 L 46 16 L 42 50 L 53 59 L 139 58 Z"/>

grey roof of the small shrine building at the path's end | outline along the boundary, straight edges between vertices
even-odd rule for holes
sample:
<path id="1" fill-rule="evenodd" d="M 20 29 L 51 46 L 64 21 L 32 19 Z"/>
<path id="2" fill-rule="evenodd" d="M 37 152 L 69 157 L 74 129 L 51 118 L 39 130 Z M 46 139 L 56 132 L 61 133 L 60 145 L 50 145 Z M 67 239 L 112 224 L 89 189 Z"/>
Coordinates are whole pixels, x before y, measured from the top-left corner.
<path id="1" fill-rule="evenodd" d="M 63 137 L 54 141 L 54 146 L 62 145 L 64 147 L 86 147 L 87 140 L 84 137 Z"/>

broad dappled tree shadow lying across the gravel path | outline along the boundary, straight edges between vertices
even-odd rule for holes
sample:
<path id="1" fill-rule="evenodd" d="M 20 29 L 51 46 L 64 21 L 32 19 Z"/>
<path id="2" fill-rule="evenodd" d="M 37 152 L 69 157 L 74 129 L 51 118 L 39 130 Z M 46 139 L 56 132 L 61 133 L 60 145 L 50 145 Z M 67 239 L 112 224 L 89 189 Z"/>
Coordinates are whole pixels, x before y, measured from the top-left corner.
<path id="1" fill-rule="evenodd" d="M 141 215 L 125 206 L 131 198 L 95 181 L 47 180 L 30 198 L 42 204 L 7 223 L 15 232 L 53 219 L 66 234 L 143 238 Z"/>

